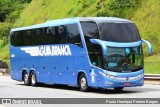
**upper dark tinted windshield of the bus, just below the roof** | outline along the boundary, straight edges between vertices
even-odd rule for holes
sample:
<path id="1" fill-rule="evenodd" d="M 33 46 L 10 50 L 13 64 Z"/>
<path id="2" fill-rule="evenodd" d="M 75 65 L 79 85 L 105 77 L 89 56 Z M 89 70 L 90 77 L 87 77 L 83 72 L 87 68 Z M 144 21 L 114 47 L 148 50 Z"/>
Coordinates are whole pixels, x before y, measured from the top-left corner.
<path id="1" fill-rule="evenodd" d="M 111 42 L 136 42 L 140 40 L 134 23 L 99 23 L 101 40 Z"/>

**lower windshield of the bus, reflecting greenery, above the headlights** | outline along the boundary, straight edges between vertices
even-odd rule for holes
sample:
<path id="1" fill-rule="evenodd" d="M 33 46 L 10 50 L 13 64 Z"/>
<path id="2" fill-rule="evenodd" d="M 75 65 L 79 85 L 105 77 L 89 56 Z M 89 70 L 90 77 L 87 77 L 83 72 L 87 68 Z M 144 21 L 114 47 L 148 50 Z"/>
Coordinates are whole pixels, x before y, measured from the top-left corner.
<path id="1" fill-rule="evenodd" d="M 143 69 L 141 47 L 115 48 L 107 47 L 104 68 L 115 72 L 134 72 Z"/>

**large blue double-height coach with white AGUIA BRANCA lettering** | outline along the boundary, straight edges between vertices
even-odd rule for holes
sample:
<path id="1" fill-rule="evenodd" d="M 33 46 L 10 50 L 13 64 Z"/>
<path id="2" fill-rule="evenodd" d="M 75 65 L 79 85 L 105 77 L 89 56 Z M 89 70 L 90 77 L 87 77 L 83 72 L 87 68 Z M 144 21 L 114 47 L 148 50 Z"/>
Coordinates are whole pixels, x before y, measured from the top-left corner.
<path id="1" fill-rule="evenodd" d="M 11 78 L 38 83 L 114 88 L 143 86 L 142 42 L 135 23 L 115 17 L 47 21 L 10 31 Z"/>

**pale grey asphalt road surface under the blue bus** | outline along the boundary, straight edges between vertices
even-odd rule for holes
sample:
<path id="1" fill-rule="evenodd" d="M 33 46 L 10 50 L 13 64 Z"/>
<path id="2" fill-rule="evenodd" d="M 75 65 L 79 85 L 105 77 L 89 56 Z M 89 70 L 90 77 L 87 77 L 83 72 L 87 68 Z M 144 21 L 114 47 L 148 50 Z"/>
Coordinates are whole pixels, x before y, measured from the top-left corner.
<path id="1" fill-rule="evenodd" d="M 124 88 L 122 92 L 115 92 L 113 89 L 92 89 L 90 92 L 81 92 L 78 87 L 62 85 L 25 86 L 23 82 L 12 80 L 9 76 L 0 76 L 0 98 L 160 98 L 160 85 L 145 84 L 142 87 L 128 87 Z M 66 107 L 66 105 L 61 106 Z M 71 106 L 67 105 L 67 107 Z M 76 107 L 83 106 L 83 104 L 76 105 Z M 96 105 L 88 106 L 97 107 Z M 106 107 L 106 105 L 101 106 Z M 146 107 L 148 106 L 146 105 Z M 0 107 L 22 107 L 22 105 L 0 105 Z M 25 106 L 23 105 L 23 107 Z M 60 107 L 60 105 L 57 104 L 54 107 Z"/>

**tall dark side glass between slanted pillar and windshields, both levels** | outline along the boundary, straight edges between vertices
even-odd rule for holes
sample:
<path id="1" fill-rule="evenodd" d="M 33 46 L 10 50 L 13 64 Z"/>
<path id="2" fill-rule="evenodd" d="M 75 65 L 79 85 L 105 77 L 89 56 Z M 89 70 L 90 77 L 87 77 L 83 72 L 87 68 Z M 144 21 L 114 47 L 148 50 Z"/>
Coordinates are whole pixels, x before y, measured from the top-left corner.
<path id="1" fill-rule="evenodd" d="M 93 44 L 89 40 L 99 39 L 97 24 L 94 22 L 81 22 L 81 26 L 86 41 L 90 62 L 94 66 L 102 68 L 102 48 L 100 45 Z"/>

